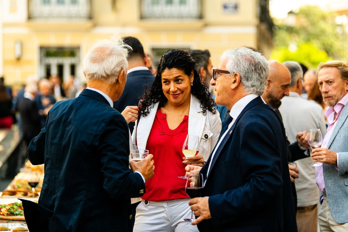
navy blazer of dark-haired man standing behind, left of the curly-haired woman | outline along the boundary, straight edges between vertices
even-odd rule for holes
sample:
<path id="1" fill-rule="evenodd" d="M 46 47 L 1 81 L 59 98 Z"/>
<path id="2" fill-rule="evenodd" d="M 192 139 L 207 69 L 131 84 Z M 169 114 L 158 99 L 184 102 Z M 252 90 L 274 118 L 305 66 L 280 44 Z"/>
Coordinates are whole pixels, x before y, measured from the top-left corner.
<path id="1" fill-rule="evenodd" d="M 148 86 L 155 80 L 155 76 L 150 70 L 138 70 L 127 74 L 125 89 L 117 102 L 113 103 L 113 107 L 122 112 L 127 106 L 137 106 L 142 94 Z M 128 127 L 130 134 L 133 133 L 135 122 L 129 122 Z"/>

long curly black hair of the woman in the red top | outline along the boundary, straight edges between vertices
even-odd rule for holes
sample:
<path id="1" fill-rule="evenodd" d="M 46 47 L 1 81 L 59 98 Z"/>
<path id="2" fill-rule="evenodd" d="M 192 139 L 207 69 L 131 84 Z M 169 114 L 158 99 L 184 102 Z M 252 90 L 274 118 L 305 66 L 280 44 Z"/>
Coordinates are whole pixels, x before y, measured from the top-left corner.
<path id="1" fill-rule="evenodd" d="M 191 94 L 193 94 L 200 103 L 200 107 L 203 109 L 203 114 L 209 110 L 212 113 L 216 113 L 216 106 L 212 94 L 209 92 L 208 87 L 201 81 L 201 77 L 198 71 L 195 69 L 197 63 L 189 55 L 187 51 L 180 49 L 168 50 L 161 57 L 161 60 L 157 66 L 157 74 L 155 80 L 151 86 L 147 88 L 142 97 L 142 104 L 140 109 L 140 115 L 148 115 L 150 110 L 154 107 L 153 104 L 159 102 L 159 107 L 163 107 L 168 101 L 165 97 L 162 89 L 161 75 L 166 69 L 179 69 L 186 75 L 190 76 L 193 70 L 193 86 L 191 86 Z"/>

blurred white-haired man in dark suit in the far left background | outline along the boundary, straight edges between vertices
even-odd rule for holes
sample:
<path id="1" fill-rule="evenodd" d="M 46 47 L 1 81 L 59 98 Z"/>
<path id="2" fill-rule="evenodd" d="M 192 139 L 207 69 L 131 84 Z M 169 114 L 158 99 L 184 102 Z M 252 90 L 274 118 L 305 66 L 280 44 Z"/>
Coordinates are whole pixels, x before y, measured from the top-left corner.
<path id="1" fill-rule="evenodd" d="M 35 103 L 38 92 L 36 82 L 29 82 L 24 88 L 23 99 L 18 103 L 18 111 L 21 120 L 23 139 L 26 145 L 41 131 L 41 118 L 39 109 Z"/>

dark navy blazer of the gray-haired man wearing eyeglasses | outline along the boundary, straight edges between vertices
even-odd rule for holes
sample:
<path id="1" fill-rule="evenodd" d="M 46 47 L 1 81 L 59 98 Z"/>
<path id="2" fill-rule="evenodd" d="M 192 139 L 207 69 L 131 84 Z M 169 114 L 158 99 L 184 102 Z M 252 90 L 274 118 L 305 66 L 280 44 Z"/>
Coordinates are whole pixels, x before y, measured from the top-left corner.
<path id="1" fill-rule="evenodd" d="M 297 231 L 286 154 L 280 118 L 255 98 L 200 171 L 212 218 L 199 231 Z"/>

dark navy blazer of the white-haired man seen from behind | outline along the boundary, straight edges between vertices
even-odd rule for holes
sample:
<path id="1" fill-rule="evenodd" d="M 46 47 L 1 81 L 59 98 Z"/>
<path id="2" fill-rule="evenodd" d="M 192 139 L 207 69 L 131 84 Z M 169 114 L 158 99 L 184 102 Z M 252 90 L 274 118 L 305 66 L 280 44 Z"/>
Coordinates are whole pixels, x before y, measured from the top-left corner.
<path id="1" fill-rule="evenodd" d="M 50 232 L 130 231 L 130 198 L 145 184 L 128 167 L 128 141 L 125 119 L 95 91 L 52 107 L 28 147 L 34 165 L 45 163 L 39 204 L 53 211 Z"/>

